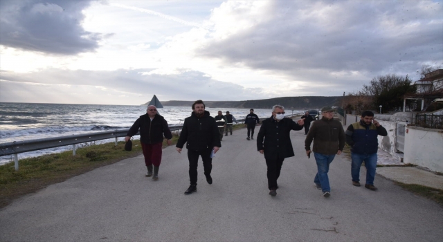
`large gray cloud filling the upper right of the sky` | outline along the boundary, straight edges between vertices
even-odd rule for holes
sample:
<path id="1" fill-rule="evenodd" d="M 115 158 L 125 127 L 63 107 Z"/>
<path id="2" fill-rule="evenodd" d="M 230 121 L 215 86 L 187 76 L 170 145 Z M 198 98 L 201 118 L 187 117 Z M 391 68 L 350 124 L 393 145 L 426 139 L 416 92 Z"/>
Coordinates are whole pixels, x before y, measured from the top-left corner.
<path id="1" fill-rule="evenodd" d="M 332 72 L 412 74 L 443 62 L 442 4 L 433 1 L 272 1 L 269 20 L 199 55 L 315 80 Z M 440 63 L 439 63 L 440 62 Z M 302 77 L 302 78 L 300 78 Z M 304 79 L 306 78 L 306 79 Z M 363 79 L 361 79 L 363 80 Z M 361 81 L 359 80 L 359 81 Z M 319 82 L 322 82 L 320 80 Z"/>

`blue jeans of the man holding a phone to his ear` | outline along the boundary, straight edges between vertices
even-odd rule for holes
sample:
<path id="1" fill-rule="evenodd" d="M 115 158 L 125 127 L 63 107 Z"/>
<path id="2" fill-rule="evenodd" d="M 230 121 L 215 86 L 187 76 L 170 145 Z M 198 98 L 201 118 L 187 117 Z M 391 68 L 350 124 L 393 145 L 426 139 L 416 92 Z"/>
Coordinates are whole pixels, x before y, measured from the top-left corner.
<path id="1" fill-rule="evenodd" d="M 366 183 L 374 185 L 375 169 L 377 168 L 377 153 L 352 153 L 351 176 L 353 181 L 360 181 L 360 167 L 363 161 L 366 166 Z"/>

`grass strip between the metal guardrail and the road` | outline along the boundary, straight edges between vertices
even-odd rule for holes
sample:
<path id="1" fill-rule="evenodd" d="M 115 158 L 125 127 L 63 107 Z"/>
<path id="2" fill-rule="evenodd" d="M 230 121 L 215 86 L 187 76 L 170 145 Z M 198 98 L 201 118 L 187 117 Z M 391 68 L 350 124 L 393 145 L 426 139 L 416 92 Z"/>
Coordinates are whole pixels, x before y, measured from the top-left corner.
<path id="1" fill-rule="evenodd" d="M 174 132 L 173 132 L 174 133 Z M 172 143 L 178 140 L 174 133 Z M 166 140 L 163 147 L 166 147 Z M 53 153 L 45 156 L 19 160 L 19 171 L 15 171 L 14 162 L 0 165 L 0 208 L 6 207 L 14 199 L 37 192 L 39 189 L 60 183 L 73 176 L 84 174 L 98 167 L 110 165 L 142 153 L 140 140 L 132 140 L 132 151 L 125 151 L 125 142 L 102 145 L 82 145 L 76 150 Z"/>

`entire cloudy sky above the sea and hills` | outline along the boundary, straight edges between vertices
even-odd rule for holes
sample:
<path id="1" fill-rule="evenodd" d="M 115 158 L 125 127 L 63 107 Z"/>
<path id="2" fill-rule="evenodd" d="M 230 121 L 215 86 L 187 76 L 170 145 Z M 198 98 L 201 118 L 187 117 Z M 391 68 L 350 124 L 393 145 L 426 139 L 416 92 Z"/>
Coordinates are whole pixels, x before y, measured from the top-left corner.
<path id="1" fill-rule="evenodd" d="M 0 102 L 343 95 L 443 66 L 443 0 L 0 0 Z"/>

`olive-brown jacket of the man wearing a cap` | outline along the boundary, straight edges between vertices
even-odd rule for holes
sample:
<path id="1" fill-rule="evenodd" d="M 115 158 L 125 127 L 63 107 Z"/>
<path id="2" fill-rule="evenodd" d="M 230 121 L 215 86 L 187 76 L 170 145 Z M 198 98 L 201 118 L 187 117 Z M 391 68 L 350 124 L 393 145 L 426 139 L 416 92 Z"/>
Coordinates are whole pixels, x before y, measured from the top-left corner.
<path id="1" fill-rule="evenodd" d="M 328 120 L 323 117 L 311 124 L 311 129 L 309 129 L 305 140 L 307 151 L 311 149 L 313 139 L 314 147 L 312 151 L 323 155 L 335 155 L 338 150 L 343 151 L 346 136 L 340 121 L 334 120 L 334 118 Z"/>

